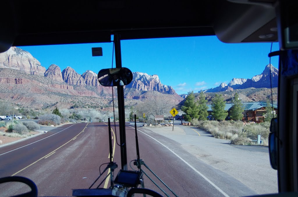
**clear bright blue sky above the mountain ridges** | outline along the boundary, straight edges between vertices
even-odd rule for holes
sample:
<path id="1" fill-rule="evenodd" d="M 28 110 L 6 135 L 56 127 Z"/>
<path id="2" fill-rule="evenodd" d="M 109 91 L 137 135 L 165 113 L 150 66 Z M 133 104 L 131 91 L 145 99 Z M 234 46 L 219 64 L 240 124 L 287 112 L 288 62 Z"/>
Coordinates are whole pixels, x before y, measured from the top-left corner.
<path id="1" fill-rule="evenodd" d="M 232 78 L 252 78 L 269 63 L 271 43 L 226 44 L 215 36 L 122 40 L 122 66 L 132 72 L 157 74 L 162 84 L 178 94 L 198 92 L 228 84 Z M 92 57 L 91 47 L 102 47 L 102 57 Z M 112 43 L 26 46 L 33 57 L 48 68 L 56 64 L 61 71 L 70 66 L 79 74 L 98 73 L 112 66 Z M 273 43 L 272 51 L 279 50 Z M 278 68 L 278 58 L 271 64 Z M 115 67 L 115 60 L 114 65 Z"/>

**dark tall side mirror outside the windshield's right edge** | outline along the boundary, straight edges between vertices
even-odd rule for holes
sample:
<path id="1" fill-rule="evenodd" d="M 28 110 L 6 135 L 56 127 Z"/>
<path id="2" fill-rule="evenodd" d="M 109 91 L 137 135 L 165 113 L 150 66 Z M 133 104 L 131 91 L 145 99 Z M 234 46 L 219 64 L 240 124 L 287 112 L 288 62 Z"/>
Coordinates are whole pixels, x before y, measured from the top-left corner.
<path id="1" fill-rule="evenodd" d="M 277 118 L 272 118 L 268 137 L 270 164 L 277 170 Z"/>

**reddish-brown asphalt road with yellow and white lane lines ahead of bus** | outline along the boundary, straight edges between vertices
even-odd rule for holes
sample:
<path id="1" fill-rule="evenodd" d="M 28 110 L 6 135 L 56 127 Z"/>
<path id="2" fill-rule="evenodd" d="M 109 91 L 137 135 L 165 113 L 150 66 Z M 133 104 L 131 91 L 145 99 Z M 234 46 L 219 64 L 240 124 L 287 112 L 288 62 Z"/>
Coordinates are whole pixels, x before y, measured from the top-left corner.
<path id="1" fill-rule="evenodd" d="M 115 143 L 115 134 L 119 143 L 117 123 L 116 132 L 114 126 L 112 128 L 114 162 L 118 164 L 116 175 L 121 168 L 120 147 Z M 195 158 L 176 141 L 145 128 L 138 129 L 140 158 L 178 196 L 255 194 L 238 180 Z M 68 124 L 0 148 L 0 177 L 28 177 L 38 186 L 39 196 L 71 196 L 72 189 L 88 188 L 99 175 L 100 165 L 109 162 L 107 131 L 105 123 Z M 136 159 L 134 132 L 134 128 L 126 127 L 128 163 Z M 105 165 L 101 171 L 104 168 Z M 146 188 L 162 194 L 145 176 L 144 182 Z M 108 181 L 101 185 L 108 186 Z M 0 185 L 3 196 L 19 194 L 26 188 L 16 183 Z"/>

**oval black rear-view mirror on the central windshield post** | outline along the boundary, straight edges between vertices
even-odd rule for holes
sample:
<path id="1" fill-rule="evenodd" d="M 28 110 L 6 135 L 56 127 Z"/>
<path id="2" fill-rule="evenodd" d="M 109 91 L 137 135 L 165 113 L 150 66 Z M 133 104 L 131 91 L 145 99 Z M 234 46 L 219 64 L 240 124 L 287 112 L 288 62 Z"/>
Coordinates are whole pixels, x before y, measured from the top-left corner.
<path id="1" fill-rule="evenodd" d="M 128 85 L 132 81 L 132 72 L 128 68 L 102 69 L 99 71 L 97 79 L 103 86 Z"/>

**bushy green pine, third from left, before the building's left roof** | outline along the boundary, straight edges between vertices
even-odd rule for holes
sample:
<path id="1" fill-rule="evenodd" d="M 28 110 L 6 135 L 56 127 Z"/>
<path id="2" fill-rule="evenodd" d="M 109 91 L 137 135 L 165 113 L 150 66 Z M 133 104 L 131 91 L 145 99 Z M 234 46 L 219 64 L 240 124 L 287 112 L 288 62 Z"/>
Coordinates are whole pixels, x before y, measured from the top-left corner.
<path id="1" fill-rule="evenodd" d="M 224 120 L 226 119 L 226 116 L 228 115 L 228 112 L 224 110 L 226 107 L 226 101 L 224 101 L 224 98 L 221 94 L 215 94 L 215 97 L 212 99 L 211 109 L 213 112 L 211 112 L 211 115 L 215 118 L 215 120 Z"/>

